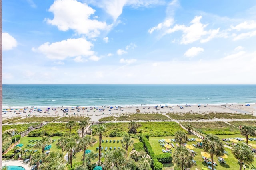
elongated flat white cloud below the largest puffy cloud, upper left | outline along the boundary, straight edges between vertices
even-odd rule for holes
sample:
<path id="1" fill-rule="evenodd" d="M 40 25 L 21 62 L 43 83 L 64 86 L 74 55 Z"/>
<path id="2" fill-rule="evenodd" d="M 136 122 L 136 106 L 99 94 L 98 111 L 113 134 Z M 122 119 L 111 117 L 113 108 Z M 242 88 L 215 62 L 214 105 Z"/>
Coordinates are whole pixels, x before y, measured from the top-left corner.
<path id="1" fill-rule="evenodd" d="M 32 48 L 33 51 L 43 53 L 49 59 L 64 60 L 67 57 L 77 56 L 91 56 L 94 51 L 91 51 L 92 43 L 86 41 L 84 38 L 67 39 L 55 43 L 44 43 L 37 49 Z"/>

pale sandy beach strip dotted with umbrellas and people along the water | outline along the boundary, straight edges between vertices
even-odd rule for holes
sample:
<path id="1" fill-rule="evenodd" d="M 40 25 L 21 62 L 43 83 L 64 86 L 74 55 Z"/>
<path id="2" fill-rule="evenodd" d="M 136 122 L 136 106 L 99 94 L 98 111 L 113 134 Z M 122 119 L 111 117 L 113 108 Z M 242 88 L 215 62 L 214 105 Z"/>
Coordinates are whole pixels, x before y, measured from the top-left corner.
<path id="1" fill-rule="evenodd" d="M 122 115 L 124 113 L 246 113 L 256 116 L 256 104 L 225 104 L 225 105 L 172 105 L 172 106 L 93 106 L 93 107 L 23 107 L 3 109 L 2 118 L 10 119 L 21 116 L 22 118 L 30 116 L 88 116 L 91 121 L 98 121 L 102 117 L 110 115 Z M 38 111 L 40 109 L 41 111 Z M 66 110 L 66 112 L 64 111 Z"/>

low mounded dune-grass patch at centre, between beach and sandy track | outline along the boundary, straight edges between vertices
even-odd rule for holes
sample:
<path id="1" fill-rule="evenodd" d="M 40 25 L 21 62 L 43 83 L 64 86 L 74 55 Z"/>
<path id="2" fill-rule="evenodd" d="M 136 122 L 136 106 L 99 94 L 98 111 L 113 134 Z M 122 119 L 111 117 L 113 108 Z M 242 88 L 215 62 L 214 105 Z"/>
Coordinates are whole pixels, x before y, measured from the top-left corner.
<path id="1" fill-rule="evenodd" d="M 120 117 L 116 118 L 116 121 L 131 121 L 131 120 L 144 120 L 144 121 L 150 121 L 150 120 L 170 120 L 168 117 L 162 114 L 157 113 L 145 113 L 145 114 L 127 114 L 122 115 Z"/>

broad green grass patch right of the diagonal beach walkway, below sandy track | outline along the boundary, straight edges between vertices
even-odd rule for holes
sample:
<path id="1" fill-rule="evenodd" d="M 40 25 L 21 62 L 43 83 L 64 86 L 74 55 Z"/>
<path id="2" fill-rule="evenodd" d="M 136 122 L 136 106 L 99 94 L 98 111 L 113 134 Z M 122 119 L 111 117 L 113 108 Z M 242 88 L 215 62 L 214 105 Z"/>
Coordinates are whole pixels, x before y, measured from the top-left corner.
<path id="1" fill-rule="evenodd" d="M 215 134 L 215 135 L 224 135 L 224 134 L 240 134 L 238 128 L 228 125 L 225 122 L 181 122 L 183 126 L 187 124 L 192 125 L 192 127 L 201 133 L 204 134 Z"/>

